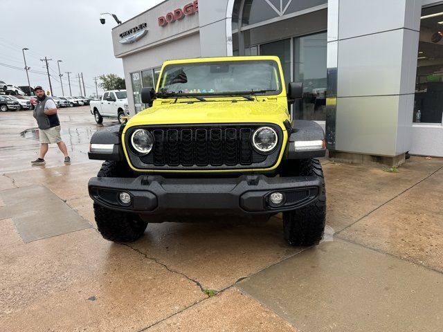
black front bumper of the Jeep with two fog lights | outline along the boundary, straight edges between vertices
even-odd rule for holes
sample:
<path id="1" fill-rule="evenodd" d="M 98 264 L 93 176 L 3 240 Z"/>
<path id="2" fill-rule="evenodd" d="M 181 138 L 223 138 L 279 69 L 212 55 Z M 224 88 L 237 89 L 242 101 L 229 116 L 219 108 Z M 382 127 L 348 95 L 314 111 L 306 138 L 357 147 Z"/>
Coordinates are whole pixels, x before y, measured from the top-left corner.
<path id="1" fill-rule="evenodd" d="M 217 210 L 226 214 L 275 214 L 302 208 L 318 199 L 323 178 L 317 176 L 237 178 L 91 178 L 89 196 L 111 210 L 139 214 L 171 214 L 183 210 Z M 118 199 L 120 192 L 132 198 Z M 272 207 L 269 195 L 282 192 L 284 203 Z"/>

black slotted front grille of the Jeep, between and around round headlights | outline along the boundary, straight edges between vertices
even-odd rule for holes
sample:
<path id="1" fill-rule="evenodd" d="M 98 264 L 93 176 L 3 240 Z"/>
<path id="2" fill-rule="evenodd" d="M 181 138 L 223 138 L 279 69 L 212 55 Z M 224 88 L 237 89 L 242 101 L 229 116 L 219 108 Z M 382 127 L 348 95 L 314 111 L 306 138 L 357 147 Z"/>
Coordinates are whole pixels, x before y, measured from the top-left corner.
<path id="1" fill-rule="evenodd" d="M 275 164 L 282 143 L 281 129 L 272 127 L 279 135 L 279 148 L 269 155 L 259 154 L 251 145 L 251 136 L 258 127 L 269 124 L 226 124 L 218 126 L 143 127 L 152 133 L 154 147 L 150 154 L 129 154 L 139 169 L 244 169 L 268 168 Z M 129 137 L 135 129 L 126 133 Z"/>

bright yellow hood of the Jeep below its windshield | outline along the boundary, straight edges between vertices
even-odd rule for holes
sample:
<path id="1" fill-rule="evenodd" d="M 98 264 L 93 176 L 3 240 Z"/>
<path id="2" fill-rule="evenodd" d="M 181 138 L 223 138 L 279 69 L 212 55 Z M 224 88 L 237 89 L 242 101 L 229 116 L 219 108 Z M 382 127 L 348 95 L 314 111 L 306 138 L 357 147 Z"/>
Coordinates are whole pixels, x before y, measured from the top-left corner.
<path id="1" fill-rule="evenodd" d="M 287 109 L 277 102 L 226 101 L 163 104 L 145 109 L 132 117 L 127 127 L 150 124 L 204 124 L 267 122 L 289 120 Z"/>

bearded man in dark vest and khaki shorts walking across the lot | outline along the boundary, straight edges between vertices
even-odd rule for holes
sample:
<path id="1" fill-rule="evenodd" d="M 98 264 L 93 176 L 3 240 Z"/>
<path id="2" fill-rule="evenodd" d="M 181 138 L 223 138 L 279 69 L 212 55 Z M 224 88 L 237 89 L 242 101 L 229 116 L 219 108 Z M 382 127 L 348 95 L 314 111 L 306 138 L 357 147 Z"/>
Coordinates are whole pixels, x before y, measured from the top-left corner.
<path id="1" fill-rule="evenodd" d="M 33 166 L 44 165 L 44 156 L 48 152 L 48 144 L 57 143 L 58 148 L 64 154 L 65 165 L 71 164 L 68 149 L 60 136 L 60 120 L 57 116 L 57 105 L 52 98 L 49 98 L 42 89 L 42 86 L 35 86 L 35 94 L 38 103 L 35 106 L 33 116 L 39 126 L 40 154 L 39 158 L 32 161 Z"/>

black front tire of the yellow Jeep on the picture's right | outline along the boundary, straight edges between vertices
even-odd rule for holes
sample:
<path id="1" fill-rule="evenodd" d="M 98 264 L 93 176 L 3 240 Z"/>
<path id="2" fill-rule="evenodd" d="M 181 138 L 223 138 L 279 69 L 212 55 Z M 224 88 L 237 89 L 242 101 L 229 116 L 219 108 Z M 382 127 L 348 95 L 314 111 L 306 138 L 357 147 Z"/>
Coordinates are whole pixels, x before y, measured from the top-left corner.
<path id="1" fill-rule="evenodd" d="M 323 169 L 317 159 L 297 160 L 297 163 L 287 164 L 287 169 L 282 169 L 282 175 L 287 176 L 320 176 Z M 289 174 L 288 174 L 289 172 Z M 326 221 L 326 192 L 325 182 L 320 192 L 320 197 L 305 208 L 283 212 L 284 239 L 291 246 L 313 246 L 320 242 L 325 230 Z"/>

